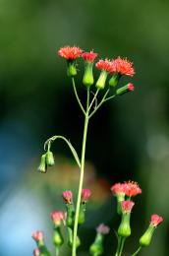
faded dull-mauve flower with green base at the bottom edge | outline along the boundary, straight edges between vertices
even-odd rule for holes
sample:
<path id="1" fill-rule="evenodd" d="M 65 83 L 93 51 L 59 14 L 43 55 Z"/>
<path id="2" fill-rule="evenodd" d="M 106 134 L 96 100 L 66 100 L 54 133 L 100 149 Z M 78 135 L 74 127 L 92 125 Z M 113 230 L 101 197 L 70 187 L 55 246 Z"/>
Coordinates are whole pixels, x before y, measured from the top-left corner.
<path id="1" fill-rule="evenodd" d="M 109 227 L 105 224 L 99 224 L 96 228 L 96 236 L 94 242 L 89 247 L 89 252 L 92 256 L 102 255 L 104 235 L 109 232 Z"/>

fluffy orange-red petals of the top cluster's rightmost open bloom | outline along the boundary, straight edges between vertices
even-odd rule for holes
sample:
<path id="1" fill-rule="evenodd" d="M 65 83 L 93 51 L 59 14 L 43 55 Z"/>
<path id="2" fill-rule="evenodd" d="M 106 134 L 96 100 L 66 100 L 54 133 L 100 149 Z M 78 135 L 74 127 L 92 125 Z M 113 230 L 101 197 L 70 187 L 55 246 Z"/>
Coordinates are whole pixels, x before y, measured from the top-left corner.
<path id="1" fill-rule="evenodd" d="M 127 58 L 122 59 L 118 57 L 117 59 L 112 60 L 112 64 L 114 66 L 115 72 L 120 75 L 126 75 L 133 77 L 135 75 L 135 70 L 133 67 L 133 62 L 127 60 Z"/>

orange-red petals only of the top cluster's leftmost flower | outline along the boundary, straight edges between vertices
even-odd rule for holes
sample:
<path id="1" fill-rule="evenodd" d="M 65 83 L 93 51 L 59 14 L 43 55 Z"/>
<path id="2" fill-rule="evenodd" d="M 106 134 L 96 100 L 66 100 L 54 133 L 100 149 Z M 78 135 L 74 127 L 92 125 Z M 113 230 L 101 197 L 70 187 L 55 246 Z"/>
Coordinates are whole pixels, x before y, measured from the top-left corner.
<path id="1" fill-rule="evenodd" d="M 81 57 L 83 53 L 83 50 L 80 47 L 76 47 L 76 46 L 64 46 L 62 48 L 59 49 L 58 51 L 58 55 L 68 59 L 68 60 L 74 60 L 77 59 L 79 57 Z"/>

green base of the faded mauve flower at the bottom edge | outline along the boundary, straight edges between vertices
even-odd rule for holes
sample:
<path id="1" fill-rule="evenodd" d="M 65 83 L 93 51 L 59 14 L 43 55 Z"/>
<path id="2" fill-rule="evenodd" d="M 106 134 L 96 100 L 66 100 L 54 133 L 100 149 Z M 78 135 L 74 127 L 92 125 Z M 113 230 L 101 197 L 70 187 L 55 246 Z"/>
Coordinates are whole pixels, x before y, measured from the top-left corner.
<path id="1" fill-rule="evenodd" d="M 89 247 L 92 256 L 99 256 L 103 253 L 103 235 L 97 233 L 94 242 Z"/>

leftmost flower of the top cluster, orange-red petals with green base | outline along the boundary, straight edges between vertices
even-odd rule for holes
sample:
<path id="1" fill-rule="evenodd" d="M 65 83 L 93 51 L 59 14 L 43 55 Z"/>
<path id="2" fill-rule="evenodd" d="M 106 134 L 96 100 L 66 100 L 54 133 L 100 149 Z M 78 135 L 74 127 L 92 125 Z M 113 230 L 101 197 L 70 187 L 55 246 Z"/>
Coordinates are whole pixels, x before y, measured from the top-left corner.
<path id="1" fill-rule="evenodd" d="M 68 76 L 74 77 L 77 75 L 77 68 L 75 60 L 81 57 L 83 50 L 77 46 L 64 46 L 59 49 L 59 56 L 65 58 L 67 60 L 68 68 L 67 74 Z"/>

